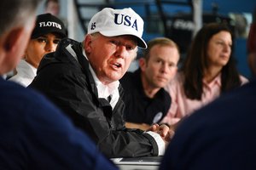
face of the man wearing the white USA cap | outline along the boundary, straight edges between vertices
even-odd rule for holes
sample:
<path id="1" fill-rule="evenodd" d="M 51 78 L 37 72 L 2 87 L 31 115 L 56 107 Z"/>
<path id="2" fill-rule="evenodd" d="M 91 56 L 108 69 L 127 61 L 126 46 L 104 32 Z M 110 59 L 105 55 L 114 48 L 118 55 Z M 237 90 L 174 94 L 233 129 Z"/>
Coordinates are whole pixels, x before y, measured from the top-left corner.
<path id="1" fill-rule="evenodd" d="M 119 80 L 137 56 L 137 42 L 132 36 L 105 37 L 88 35 L 84 49 L 90 65 L 103 84 Z"/>

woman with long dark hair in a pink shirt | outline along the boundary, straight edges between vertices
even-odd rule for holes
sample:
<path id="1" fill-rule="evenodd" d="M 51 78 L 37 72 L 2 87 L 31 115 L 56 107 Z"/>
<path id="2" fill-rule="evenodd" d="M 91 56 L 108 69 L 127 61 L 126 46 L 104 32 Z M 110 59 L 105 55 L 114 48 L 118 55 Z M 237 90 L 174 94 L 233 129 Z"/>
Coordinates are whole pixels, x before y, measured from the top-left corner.
<path id="1" fill-rule="evenodd" d="M 172 105 L 163 123 L 177 123 L 220 94 L 248 82 L 236 69 L 233 38 L 225 24 L 210 23 L 195 35 L 177 77 L 167 84 Z"/>

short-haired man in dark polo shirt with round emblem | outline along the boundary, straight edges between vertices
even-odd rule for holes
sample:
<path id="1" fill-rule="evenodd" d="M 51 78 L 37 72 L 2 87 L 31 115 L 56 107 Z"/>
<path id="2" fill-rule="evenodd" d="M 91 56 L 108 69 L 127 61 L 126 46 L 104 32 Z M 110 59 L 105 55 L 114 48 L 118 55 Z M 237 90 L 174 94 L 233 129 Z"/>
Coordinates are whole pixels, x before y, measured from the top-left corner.
<path id="1" fill-rule="evenodd" d="M 166 116 L 171 97 L 164 88 L 177 72 L 178 59 L 177 44 L 171 39 L 158 37 L 148 42 L 140 68 L 120 79 L 125 89 L 126 127 L 146 130 Z"/>

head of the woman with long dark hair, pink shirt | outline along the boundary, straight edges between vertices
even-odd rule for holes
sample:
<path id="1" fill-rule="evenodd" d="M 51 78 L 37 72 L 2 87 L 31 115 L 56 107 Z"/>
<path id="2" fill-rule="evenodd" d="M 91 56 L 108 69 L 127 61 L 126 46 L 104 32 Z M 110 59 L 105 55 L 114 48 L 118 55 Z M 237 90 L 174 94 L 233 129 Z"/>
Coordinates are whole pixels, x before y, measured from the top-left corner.
<path id="1" fill-rule="evenodd" d="M 210 66 L 224 67 L 230 61 L 232 39 L 232 32 L 225 24 L 203 26 L 191 44 L 184 67 L 200 71 L 206 71 Z"/>

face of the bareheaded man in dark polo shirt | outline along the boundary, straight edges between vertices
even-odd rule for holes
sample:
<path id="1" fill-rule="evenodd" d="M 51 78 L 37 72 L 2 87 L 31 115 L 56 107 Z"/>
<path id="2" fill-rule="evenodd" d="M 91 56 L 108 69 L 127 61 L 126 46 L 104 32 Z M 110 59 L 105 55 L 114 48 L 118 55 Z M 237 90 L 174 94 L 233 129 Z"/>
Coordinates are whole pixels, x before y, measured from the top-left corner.
<path id="1" fill-rule="evenodd" d="M 177 48 L 155 45 L 149 52 L 148 62 L 143 59 L 140 66 L 148 86 L 164 88 L 177 72 L 179 54 Z"/>

